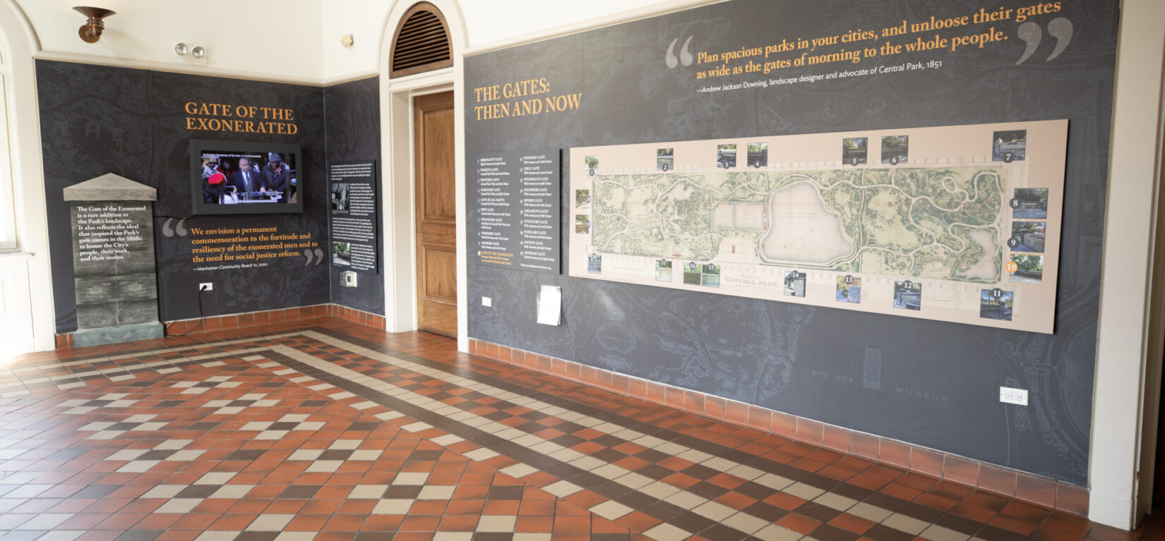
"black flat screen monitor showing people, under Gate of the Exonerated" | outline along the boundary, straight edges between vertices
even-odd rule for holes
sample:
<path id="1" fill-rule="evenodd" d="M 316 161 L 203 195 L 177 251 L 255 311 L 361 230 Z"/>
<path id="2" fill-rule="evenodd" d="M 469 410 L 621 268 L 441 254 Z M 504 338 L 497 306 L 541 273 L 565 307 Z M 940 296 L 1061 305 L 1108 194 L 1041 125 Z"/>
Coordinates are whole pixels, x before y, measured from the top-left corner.
<path id="1" fill-rule="evenodd" d="M 191 140 L 193 213 L 303 212 L 302 159 L 298 144 Z"/>

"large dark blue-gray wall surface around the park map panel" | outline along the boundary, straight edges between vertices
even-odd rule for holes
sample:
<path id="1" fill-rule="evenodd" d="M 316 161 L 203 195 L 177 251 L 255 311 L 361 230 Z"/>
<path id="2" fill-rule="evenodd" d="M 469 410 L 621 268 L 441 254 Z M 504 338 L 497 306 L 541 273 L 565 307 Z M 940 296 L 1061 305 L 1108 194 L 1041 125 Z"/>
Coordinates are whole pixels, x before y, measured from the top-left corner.
<path id="1" fill-rule="evenodd" d="M 469 336 L 756 404 L 1057 479 L 1087 482 L 1116 2 L 1062 1 L 1064 54 L 1044 41 L 1016 65 L 1010 40 L 956 52 L 792 67 L 790 77 L 939 59 L 938 70 L 698 93 L 693 51 L 874 29 L 1032 2 L 736 0 L 466 59 L 466 156 L 499 150 L 1068 119 L 1057 326 L 1051 335 L 469 265 Z M 986 29 L 986 28 L 984 28 Z M 945 31 L 944 34 L 959 34 Z M 877 42 L 878 44 L 881 43 Z M 678 49 L 679 44 L 677 44 Z M 545 77 L 582 92 L 578 112 L 474 119 L 472 88 Z M 569 163 L 569 151 L 563 163 Z M 468 165 L 468 164 L 467 164 Z M 569 183 L 571 171 L 565 171 Z M 569 184 L 567 184 L 569 186 Z M 570 193 L 563 190 L 564 215 Z M 471 227 L 475 216 L 468 216 Z M 564 252 L 569 229 L 564 226 Z M 565 268 L 566 262 L 564 262 Z M 542 284 L 563 286 L 564 325 L 535 323 Z M 483 308 L 481 297 L 493 297 Z M 1031 391 L 1028 407 L 1001 385 Z"/>

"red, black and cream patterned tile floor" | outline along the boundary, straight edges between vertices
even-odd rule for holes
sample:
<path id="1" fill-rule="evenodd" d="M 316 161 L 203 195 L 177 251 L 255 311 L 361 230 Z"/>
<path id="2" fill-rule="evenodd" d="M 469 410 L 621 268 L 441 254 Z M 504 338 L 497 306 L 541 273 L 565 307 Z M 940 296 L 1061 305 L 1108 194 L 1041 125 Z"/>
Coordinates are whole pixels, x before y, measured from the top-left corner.
<path id="1" fill-rule="evenodd" d="M 0 366 L 0 535 L 1165 539 L 334 319 Z"/>

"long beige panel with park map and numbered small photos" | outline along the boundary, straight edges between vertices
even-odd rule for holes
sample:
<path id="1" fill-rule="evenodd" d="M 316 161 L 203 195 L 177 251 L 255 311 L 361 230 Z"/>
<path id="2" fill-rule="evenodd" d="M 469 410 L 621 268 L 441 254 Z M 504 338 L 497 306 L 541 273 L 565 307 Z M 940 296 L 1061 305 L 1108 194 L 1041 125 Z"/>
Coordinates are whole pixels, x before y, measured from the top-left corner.
<path id="1" fill-rule="evenodd" d="M 1067 121 L 574 148 L 571 276 L 1051 333 Z"/>

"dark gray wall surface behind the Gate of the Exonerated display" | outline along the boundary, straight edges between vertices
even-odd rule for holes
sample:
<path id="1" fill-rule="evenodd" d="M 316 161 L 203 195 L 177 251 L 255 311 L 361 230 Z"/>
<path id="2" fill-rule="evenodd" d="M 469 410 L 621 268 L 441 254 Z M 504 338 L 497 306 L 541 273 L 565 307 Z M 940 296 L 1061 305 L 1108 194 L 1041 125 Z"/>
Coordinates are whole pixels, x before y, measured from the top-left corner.
<path id="1" fill-rule="evenodd" d="M 62 190 L 113 172 L 157 188 L 156 216 L 191 213 L 189 144 L 192 138 L 298 143 L 297 164 L 304 211 L 297 214 L 204 215 L 185 227 L 277 227 L 327 242 L 324 181 L 323 92 L 318 87 L 221 77 L 168 73 L 69 62 L 36 62 L 44 195 L 57 333 L 77 328 L 69 207 Z M 184 104 L 230 104 L 295 111 L 295 135 L 188 130 Z M 329 265 L 316 258 L 270 259 L 270 266 L 198 272 L 192 270 L 191 237 L 165 234 L 165 218 L 154 225 L 158 305 L 164 321 L 327 302 Z M 172 232 L 172 229 L 171 229 Z"/>

